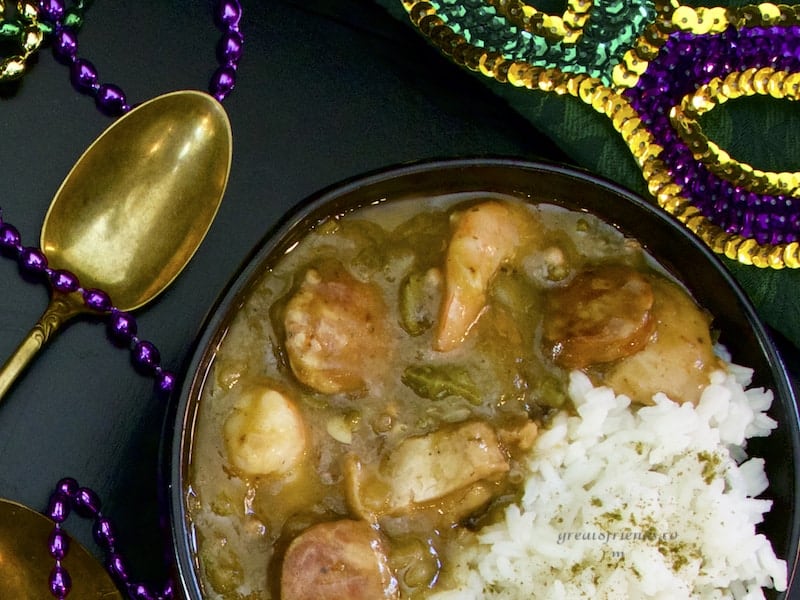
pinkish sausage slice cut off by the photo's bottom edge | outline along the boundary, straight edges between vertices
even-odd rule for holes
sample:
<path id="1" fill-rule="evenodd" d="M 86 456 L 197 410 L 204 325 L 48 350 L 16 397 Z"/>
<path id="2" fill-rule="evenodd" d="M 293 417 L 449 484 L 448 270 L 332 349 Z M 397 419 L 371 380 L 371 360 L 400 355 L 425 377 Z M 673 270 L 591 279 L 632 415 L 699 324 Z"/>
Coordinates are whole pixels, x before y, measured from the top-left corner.
<path id="1" fill-rule="evenodd" d="M 281 600 L 394 600 L 380 534 L 365 521 L 312 525 L 289 544 L 281 570 Z"/>

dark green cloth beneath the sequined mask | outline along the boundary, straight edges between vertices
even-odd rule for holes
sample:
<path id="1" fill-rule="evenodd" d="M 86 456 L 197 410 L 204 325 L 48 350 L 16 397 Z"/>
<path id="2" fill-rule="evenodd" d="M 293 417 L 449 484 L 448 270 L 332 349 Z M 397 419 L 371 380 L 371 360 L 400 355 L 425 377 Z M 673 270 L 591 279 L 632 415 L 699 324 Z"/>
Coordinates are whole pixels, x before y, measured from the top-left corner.
<path id="1" fill-rule="evenodd" d="M 379 3 L 412 26 L 400 0 Z M 605 115 L 572 96 L 515 88 L 480 74 L 475 77 L 503 98 L 510 110 L 552 139 L 575 164 L 652 200 L 636 161 Z M 700 124 L 710 139 L 740 161 L 762 170 L 800 171 L 798 108 L 788 100 L 741 98 L 718 106 Z M 721 258 L 762 320 L 800 347 L 800 269 L 760 269 Z"/>

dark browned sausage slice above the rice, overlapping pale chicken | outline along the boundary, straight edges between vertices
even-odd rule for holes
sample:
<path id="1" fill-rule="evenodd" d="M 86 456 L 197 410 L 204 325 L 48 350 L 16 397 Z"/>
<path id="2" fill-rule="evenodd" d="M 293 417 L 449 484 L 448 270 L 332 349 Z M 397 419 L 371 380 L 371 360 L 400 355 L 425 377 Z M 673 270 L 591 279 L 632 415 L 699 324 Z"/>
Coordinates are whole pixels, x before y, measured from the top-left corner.
<path id="1" fill-rule="evenodd" d="M 587 269 L 548 295 L 546 351 L 571 369 L 629 356 L 653 333 L 652 308 L 653 290 L 644 274 L 622 265 Z"/>

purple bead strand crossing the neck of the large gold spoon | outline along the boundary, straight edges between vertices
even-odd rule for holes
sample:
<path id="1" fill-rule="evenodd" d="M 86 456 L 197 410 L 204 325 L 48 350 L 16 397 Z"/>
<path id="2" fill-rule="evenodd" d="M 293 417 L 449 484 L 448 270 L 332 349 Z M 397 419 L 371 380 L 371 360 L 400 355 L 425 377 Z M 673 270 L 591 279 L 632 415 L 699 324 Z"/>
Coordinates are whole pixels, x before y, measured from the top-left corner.
<path id="1" fill-rule="evenodd" d="M 136 319 L 127 312 L 114 307 L 108 294 L 98 289 L 87 289 L 78 278 L 63 269 L 51 269 L 47 257 L 38 248 L 24 246 L 16 227 L 6 223 L 0 209 L 0 251 L 17 259 L 23 272 L 45 277 L 54 290 L 63 293 L 79 293 L 86 306 L 99 315 L 106 315 L 109 338 L 120 346 L 127 346 L 136 368 L 155 380 L 156 390 L 169 395 L 175 387 L 175 375 L 161 366 L 161 355 L 156 346 L 137 336 Z"/>

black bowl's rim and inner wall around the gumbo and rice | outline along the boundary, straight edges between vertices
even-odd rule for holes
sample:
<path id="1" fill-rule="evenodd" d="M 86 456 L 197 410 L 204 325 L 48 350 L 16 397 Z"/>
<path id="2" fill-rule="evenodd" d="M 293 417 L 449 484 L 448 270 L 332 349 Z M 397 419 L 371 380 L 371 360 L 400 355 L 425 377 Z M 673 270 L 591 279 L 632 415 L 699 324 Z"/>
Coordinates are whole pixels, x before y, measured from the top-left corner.
<path id="1" fill-rule="evenodd" d="M 185 509 L 193 428 L 200 396 L 215 349 L 248 291 L 264 268 L 323 218 L 373 203 L 411 195 L 456 192 L 499 192 L 522 199 L 533 197 L 573 210 L 585 210 L 641 241 L 646 249 L 714 315 L 720 341 L 733 361 L 755 370 L 753 385 L 770 388 L 775 401 L 770 416 L 779 423 L 767 439 L 751 440 L 749 453 L 766 461 L 773 499 L 761 531 L 776 554 L 788 564 L 790 598 L 800 584 L 797 572 L 800 518 L 796 508 L 800 476 L 800 429 L 786 368 L 752 305 L 720 260 L 671 216 L 636 195 L 585 172 L 509 159 L 461 159 L 426 162 L 367 175 L 324 190 L 290 212 L 264 238 L 241 272 L 221 295 L 198 338 L 187 378 L 178 395 L 171 436 L 167 441 L 169 501 L 179 588 L 188 598 L 202 597 L 194 553 L 195 535 Z"/>

